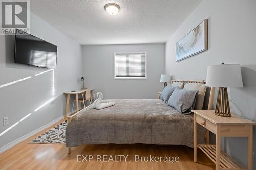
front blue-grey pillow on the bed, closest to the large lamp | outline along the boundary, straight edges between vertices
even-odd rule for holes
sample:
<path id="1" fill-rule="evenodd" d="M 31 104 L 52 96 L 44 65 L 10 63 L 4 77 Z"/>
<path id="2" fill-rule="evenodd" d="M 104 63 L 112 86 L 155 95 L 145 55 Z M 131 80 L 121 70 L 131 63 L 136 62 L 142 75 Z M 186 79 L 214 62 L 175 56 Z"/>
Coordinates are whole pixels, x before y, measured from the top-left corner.
<path id="1" fill-rule="evenodd" d="M 168 106 L 172 106 L 178 112 L 190 114 L 194 109 L 198 90 L 185 90 L 176 87 L 168 100 Z"/>

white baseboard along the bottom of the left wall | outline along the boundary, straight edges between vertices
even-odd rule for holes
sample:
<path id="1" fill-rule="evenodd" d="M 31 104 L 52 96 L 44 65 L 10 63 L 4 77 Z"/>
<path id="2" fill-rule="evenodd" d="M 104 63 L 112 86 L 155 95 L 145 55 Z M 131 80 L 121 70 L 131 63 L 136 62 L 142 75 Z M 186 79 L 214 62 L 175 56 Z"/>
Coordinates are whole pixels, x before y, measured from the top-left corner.
<path id="1" fill-rule="evenodd" d="M 28 134 L 22 136 L 22 137 L 19 137 L 17 138 L 16 140 L 13 140 L 12 142 L 4 145 L 3 147 L 0 148 L 0 154 L 5 152 L 6 150 L 14 147 L 16 144 L 20 143 L 20 142 L 23 142 L 24 140 L 30 138 L 31 136 L 37 134 L 38 132 L 46 129 L 46 128 L 49 128 L 50 126 L 56 124 L 57 122 L 59 122 L 61 119 L 63 119 L 64 116 L 60 116 L 58 118 L 56 118 L 55 120 L 52 120 L 52 122 L 44 125 L 44 126 L 41 126 L 40 128 L 37 128 L 36 130 L 33 130 L 32 132 L 29 132 Z"/>

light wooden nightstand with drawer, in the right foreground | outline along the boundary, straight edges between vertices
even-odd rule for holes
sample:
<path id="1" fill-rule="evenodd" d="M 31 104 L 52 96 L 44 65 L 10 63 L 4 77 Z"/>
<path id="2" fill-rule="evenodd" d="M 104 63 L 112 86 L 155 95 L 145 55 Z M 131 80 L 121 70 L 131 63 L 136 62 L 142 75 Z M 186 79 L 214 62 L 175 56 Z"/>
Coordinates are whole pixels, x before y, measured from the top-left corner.
<path id="1" fill-rule="evenodd" d="M 214 110 L 192 110 L 194 113 L 194 162 L 197 162 L 197 149 L 203 151 L 216 164 L 216 169 L 244 169 L 225 152 L 221 151 L 221 137 L 247 137 L 247 169 L 252 169 L 252 128 L 255 122 L 231 115 L 221 117 Z M 216 144 L 197 144 L 197 123 L 216 135 Z"/>

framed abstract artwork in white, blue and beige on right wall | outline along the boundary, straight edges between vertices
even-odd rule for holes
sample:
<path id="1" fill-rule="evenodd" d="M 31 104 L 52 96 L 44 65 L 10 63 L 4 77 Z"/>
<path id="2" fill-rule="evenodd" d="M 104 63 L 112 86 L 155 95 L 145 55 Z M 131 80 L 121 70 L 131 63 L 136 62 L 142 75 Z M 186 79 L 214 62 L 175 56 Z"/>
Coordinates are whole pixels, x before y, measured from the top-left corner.
<path id="1" fill-rule="evenodd" d="M 191 57 L 205 50 L 208 50 L 207 19 L 176 43 L 176 61 Z"/>

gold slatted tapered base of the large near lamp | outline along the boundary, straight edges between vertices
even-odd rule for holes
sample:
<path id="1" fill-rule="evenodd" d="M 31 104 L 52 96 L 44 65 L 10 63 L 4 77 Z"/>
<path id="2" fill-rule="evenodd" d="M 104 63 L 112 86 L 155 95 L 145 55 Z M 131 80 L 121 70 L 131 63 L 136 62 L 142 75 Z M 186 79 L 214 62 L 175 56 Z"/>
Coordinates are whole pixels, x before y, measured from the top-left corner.
<path id="1" fill-rule="evenodd" d="M 226 87 L 219 88 L 215 114 L 223 117 L 231 116 Z"/>

